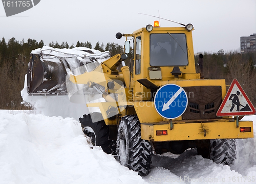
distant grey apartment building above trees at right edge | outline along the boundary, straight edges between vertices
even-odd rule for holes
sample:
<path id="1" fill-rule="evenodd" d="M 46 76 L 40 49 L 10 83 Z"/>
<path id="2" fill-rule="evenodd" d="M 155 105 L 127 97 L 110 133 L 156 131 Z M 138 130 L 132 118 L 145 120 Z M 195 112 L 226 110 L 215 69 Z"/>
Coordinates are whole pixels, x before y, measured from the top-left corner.
<path id="1" fill-rule="evenodd" d="M 256 51 L 255 38 L 256 38 L 256 33 L 254 33 L 250 36 L 240 37 L 241 53 Z"/>

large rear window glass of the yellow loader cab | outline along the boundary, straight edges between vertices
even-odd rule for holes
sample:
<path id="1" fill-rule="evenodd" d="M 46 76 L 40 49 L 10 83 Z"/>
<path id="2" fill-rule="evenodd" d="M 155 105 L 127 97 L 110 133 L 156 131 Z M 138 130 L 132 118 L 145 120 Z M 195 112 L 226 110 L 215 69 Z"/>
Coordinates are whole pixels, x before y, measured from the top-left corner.
<path id="1" fill-rule="evenodd" d="M 184 33 L 151 34 L 150 49 L 151 66 L 185 66 L 188 64 Z"/>

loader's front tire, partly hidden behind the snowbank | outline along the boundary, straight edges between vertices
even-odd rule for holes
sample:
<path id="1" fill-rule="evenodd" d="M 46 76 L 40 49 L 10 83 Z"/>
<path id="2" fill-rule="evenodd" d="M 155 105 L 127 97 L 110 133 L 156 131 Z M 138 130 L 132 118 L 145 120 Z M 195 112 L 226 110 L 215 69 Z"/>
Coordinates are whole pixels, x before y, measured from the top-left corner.
<path id="1" fill-rule="evenodd" d="M 109 140 L 109 126 L 100 113 L 91 113 L 79 118 L 83 133 L 91 138 L 93 146 L 101 146 L 105 153 L 113 153 L 113 141 Z"/>

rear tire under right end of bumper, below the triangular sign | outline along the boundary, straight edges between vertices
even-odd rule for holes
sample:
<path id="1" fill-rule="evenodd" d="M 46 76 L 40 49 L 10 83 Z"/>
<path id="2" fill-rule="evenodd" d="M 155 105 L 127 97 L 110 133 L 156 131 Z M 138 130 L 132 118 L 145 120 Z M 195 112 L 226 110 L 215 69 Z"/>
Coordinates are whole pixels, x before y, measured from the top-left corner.
<path id="1" fill-rule="evenodd" d="M 210 159 L 217 164 L 230 165 L 236 159 L 236 140 L 209 140 L 208 148 L 197 148 L 197 150 L 205 159 Z"/>

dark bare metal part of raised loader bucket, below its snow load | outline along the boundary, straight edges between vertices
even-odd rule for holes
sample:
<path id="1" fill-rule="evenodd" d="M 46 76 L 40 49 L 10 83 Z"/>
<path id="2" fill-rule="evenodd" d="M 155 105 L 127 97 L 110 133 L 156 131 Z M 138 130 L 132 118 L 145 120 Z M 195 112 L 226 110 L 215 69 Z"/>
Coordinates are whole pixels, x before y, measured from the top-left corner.
<path id="1" fill-rule="evenodd" d="M 58 58 L 57 62 L 40 59 L 38 54 L 30 54 L 27 74 L 29 94 L 66 94 L 67 71 Z"/>

